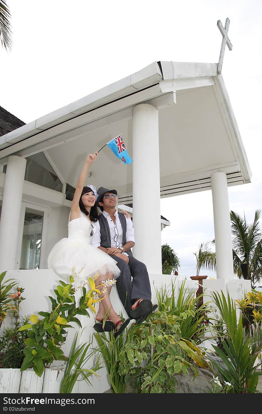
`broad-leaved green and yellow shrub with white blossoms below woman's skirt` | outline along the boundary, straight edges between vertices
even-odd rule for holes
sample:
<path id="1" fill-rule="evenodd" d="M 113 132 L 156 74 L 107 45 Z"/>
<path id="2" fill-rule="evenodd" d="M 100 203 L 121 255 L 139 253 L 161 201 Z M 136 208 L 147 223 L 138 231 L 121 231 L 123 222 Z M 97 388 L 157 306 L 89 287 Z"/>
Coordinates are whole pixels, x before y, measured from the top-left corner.
<path id="1" fill-rule="evenodd" d="M 81 271 L 80 271 L 81 272 Z M 79 273 L 80 273 L 79 272 Z M 78 273 L 78 274 L 79 274 Z M 72 327 L 70 323 L 77 323 L 82 327 L 80 320 L 76 315 L 86 315 L 89 317 L 88 308 L 96 313 L 94 303 L 98 302 L 101 291 L 95 286 L 94 280 L 89 277 L 88 281 L 84 281 L 82 286 L 73 286 L 74 277 L 78 274 L 75 268 L 72 269 L 70 275 L 70 283 L 59 281 L 60 285 L 54 290 L 56 299 L 48 296 L 52 303 L 51 312 L 38 312 L 43 316 L 39 319 L 37 315 L 31 315 L 31 324 L 24 325 L 19 331 L 27 330 L 27 338 L 24 340 L 26 347 L 24 348 L 24 361 L 21 371 L 27 368 L 34 368 L 38 376 L 43 374 L 45 366 L 53 362 L 53 360 L 66 361 L 61 347 L 67 337 L 66 328 Z M 84 287 L 89 282 L 91 289 L 87 292 Z M 112 283 L 115 281 L 113 280 Z M 100 286 L 106 286 L 108 281 L 102 282 Z M 82 288 L 82 296 L 79 299 L 79 306 L 76 305 L 75 292 Z"/>

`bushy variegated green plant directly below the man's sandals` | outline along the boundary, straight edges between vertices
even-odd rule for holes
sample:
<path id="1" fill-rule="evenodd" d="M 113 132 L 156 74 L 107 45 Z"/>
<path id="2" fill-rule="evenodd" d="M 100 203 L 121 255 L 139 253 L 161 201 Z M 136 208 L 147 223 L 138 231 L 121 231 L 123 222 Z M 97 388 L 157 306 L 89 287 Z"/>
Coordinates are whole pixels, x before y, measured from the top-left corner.
<path id="1" fill-rule="evenodd" d="M 133 376 L 137 392 L 175 393 L 174 374 L 187 374 L 187 368 L 191 367 L 196 376 L 193 361 L 206 366 L 200 349 L 181 338 L 177 319 L 158 311 L 151 314 L 146 323 L 133 325 L 128 330 L 119 353 L 119 374 L 126 383 Z"/>

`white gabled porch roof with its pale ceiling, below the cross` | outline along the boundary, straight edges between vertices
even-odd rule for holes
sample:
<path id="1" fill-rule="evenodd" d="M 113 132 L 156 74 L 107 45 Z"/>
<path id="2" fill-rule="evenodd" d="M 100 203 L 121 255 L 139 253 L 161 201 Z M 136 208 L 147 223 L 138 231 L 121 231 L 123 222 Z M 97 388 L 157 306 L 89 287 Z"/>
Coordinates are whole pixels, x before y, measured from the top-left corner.
<path id="1" fill-rule="evenodd" d="M 132 157 L 132 108 L 139 103 L 159 109 L 161 197 L 210 189 L 215 171 L 226 172 L 228 185 L 250 182 L 248 159 L 216 63 L 151 63 L 3 135 L 0 163 L 9 155 L 44 151 L 62 180 L 75 187 L 86 155 L 120 133 Z M 88 183 L 113 185 L 121 204 L 132 201 L 132 163 L 123 164 L 106 147 L 91 170 Z"/>

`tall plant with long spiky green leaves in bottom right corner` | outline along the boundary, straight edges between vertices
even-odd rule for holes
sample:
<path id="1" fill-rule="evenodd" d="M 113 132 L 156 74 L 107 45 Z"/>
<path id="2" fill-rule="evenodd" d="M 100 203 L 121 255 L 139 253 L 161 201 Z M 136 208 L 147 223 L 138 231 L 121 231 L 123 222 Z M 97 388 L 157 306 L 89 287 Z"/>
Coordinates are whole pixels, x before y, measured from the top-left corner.
<path id="1" fill-rule="evenodd" d="M 213 362 L 219 373 L 219 380 L 232 385 L 228 390 L 231 393 L 256 392 L 258 375 L 262 375 L 262 372 L 257 371 L 261 363 L 255 365 L 262 351 L 261 325 L 260 329 L 247 333 L 242 324 L 242 315 L 237 320 L 236 305 L 229 294 L 226 299 L 222 291 L 221 295 L 213 292 L 212 298 L 228 330 L 227 342 L 222 341 L 225 351 L 213 345 L 216 354 L 226 365 L 223 368 Z"/>

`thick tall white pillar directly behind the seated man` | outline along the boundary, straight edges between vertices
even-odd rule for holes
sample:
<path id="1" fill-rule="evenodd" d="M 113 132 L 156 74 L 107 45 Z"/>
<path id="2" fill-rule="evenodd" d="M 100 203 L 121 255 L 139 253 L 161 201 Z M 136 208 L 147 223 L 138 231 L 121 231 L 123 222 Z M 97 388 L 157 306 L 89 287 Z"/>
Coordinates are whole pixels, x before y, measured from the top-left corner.
<path id="1" fill-rule="evenodd" d="M 133 254 L 149 274 L 162 274 L 158 110 L 133 109 Z"/>

